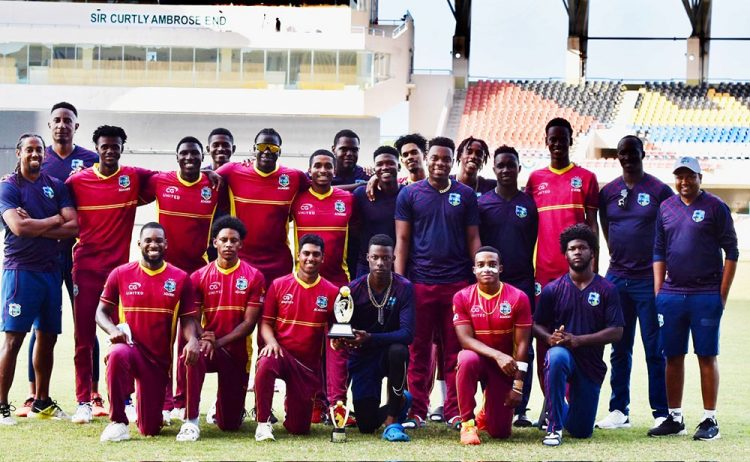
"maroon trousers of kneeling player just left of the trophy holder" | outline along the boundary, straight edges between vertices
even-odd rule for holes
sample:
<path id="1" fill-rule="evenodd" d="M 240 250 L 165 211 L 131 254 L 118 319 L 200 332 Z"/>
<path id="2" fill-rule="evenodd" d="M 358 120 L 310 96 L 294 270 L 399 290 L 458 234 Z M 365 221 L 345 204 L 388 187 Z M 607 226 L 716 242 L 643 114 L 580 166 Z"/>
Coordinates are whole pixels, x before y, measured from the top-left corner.
<path id="1" fill-rule="evenodd" d="M 286 383 L 284 427 L 289 433 L 310 432 L 315 394 L 320 390 L 320 371 L 311 369 L 282 348 L 284 356 L 263 356 L 255 365 L 255 410 L 258 422 L 268 422 L 273 403 L 273 384 L 276 379 Z"/>

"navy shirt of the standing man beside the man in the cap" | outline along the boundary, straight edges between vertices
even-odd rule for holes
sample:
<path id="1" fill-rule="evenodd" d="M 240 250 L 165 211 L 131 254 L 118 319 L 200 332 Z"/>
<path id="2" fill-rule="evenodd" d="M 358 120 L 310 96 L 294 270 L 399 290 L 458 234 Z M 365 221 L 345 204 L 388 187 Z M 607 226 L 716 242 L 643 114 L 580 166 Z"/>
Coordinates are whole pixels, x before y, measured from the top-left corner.
<path id="1" fill-rule="evenodd" d="M 618 205 L 623 191 L 624 206 Z M 628 189 L 622 177 L 599 192 L 599 217 L 608 231 L 609 273 L 621 278 L 653 279 L 653 242 L 659 205 L 674 193 L 658 178 L 645 174 Z"/>

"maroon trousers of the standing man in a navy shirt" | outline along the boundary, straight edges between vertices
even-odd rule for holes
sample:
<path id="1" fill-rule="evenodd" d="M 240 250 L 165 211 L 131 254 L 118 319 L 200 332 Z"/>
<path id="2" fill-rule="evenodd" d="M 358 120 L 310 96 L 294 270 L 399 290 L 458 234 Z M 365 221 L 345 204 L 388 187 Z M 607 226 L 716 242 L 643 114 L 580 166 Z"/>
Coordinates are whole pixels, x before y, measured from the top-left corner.
<path id="1" fill-rule="evenodd" d="M 443 371 L 447 387 L 445 420 L 459 415 L 456 401 L 456 359 L 461 346 L 453 328 L 453 295 L 466 287 L 464 281 L 449 284 L 414 284 L 416 322 L 414 341 L 409 346 L 409 391 L 413 396 L 411 412 L 426 420 L 432 389 L 432 341 L 438 333 Z"/>

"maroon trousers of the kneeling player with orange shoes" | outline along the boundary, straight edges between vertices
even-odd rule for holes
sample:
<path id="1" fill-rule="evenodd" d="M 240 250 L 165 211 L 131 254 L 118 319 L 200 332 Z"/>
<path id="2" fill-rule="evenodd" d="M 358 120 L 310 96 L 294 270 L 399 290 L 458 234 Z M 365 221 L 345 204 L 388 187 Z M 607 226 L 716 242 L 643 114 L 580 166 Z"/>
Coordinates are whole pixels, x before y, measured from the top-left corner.
<path id="1" fill-rule="evenodd" d="M 493 438 L 508 438 L 513 423 L 514 408 L 505 405 L 513 379 L 500 370 L 500 366 L 490 358 L 480 356 L 474 351 L 462 350 L 458 354 L 458 407 L 461 409 L 461 421 L 468 422 L 474 418 L 477 402 L 474 395 L 477 383 L 484 384 L 484 415 L 487 433 Z"/>

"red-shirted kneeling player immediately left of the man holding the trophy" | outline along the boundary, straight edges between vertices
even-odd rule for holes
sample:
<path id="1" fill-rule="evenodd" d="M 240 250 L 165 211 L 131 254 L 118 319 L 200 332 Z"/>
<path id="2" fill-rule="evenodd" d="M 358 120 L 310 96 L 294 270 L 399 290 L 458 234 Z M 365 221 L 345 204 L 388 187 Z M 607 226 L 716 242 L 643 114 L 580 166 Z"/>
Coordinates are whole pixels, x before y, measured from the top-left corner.
<path id="1" fill-rule="evenodd" d="M 338 294 L 320 276 L 323 247 L 320 236 L 302 236 L 299 269 L 268 288 L 260 324 L 265 346 L 255 367 L 256 441 L 275 439 L 270 419 L 277 378 L 286 382 L 284 427 L 292 434 L 310 432 L 313 400 L 321 386 L 323 340 Z"/>

